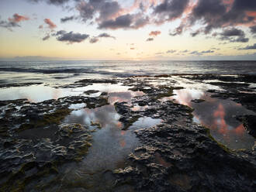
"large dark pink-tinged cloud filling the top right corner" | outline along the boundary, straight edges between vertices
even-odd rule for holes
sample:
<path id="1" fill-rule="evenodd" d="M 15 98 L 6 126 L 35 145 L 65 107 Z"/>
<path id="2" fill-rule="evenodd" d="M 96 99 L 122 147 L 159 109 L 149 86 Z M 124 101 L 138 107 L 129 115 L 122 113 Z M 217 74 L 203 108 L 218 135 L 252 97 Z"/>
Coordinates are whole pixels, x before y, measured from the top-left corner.
<path id="1" fill-rule="evenodd" d="M 232 4 L 232 2 L 234 2 Z M 200 32 L 211 33 L 213 29 L 228 26 L 251 26 L 256 19 L 256 1 L 251 0 L 199 0 L 192 12 L 182 22 L 173 34 L 181 34 L 185 29 L 191 29 L 196 23 L 203 25 Z M 179 33 L 177 33 L 177 31 Z M 172 34 L 172 33 L 171 33 Z M 198 33 L 195 33 L 198 34 Z M 246 38 L 237 39 L 246 42 Z"/>

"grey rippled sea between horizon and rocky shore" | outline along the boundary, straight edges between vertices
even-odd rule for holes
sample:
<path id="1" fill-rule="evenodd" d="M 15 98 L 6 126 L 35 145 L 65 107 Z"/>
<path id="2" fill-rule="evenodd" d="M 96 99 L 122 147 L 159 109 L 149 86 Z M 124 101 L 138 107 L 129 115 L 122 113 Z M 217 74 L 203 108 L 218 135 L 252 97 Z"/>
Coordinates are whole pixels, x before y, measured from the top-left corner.
<path id="1" fill-rule="evenodd" d="M 0 84 L 157 74 L 256 74 L 256 61 L 0 61 Z"/>

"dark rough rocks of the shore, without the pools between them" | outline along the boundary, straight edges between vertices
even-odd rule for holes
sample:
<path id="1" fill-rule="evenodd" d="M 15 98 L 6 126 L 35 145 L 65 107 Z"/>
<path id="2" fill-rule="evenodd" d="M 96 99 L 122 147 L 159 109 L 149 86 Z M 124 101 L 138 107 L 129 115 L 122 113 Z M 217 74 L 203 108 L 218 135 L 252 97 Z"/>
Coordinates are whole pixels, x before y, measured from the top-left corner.
<path id="1" fill-rule="evenodd" d="M 254 191 L 255 144 L 251 150 L 229 149 L 213 139 L 209 129 L 193 122 L 193 108 L 162 101 L 173 96 L 174 91 L 185 89 L 173 77 L 220 87 L 206 91 L 212 98 L 230 99 L 256 112 L 256 76 L 251 75 L 85 79 L 57 86 L 113 84 L 128 87 L 129 93 L 140 92 L 130 100 L 114 100 L 113 104 L 111 93 L 100 90 L 39 103 L 26 99 L 0 101 L 0 191 L 97 191 L 81 182 L 68 187 L 59 185 L 61 167 L 81 162 L 92 146 L 92 133 L 104 129 L 99 122 L 91 122 L 95 129 L 64 122 L 74 111 L 71 105 L 81 104 L 88 109 L 113 105 L 122 123 L 120 132 L 129 131 L 139 118 L 161 119 L 158 125 L 135 130 L 140 146 L 124 159 L 125 166 L 106 170 L 112 182 L 104 191 Z M 255 115 L 234 118 L 244 123 L 255 138 Z"/>

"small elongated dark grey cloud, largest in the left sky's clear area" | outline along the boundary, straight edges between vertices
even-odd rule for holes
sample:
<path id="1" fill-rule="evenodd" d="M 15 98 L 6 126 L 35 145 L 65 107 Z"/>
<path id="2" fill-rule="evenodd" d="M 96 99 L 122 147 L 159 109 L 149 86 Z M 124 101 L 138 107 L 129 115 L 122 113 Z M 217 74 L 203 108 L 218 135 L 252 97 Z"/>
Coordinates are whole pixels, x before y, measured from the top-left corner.
<path id="1" fill-rule="evenodd" d="M 64 41 L 67 43 L 81 43 L 85 39 L 88 39 L 88 34 L 81 34 L 81 33 L 73 33 L 72 31 L 67 33 L 64 30 L 58 31 L 54 34 L 54 36 L 57 36 L 58 41 Z"/>

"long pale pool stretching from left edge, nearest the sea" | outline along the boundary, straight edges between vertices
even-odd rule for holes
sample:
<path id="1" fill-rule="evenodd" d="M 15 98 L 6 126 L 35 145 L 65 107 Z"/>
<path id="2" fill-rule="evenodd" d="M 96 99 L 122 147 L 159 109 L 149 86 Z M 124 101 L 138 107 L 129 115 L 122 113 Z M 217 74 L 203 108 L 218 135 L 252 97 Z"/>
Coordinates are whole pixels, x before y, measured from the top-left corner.
<path id="1" fill-rule="evenodd" d="M 130 87 L 120 84 L 92 84 L 86 87 L 76 88 L 54 88 L 44 86 L 43 84 L 28 87 L 8 87 L 0 89 L 0 101 L 26 98 L 30 102 L 41 102 L 67 96 L 84 95 L 86 97 L 98 97 L 102 92 L 108 92 L 110 104 L 114 104 L 116 101 L 126 101 L 130 104 L 133 97 L 144 95 L 141 91 L 129 91 L 129 88 Z M 100 92 L 85 95 L 84 92 L 89 90 L 97 90 Z"/>

